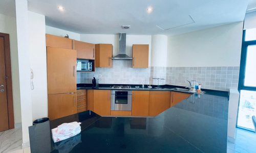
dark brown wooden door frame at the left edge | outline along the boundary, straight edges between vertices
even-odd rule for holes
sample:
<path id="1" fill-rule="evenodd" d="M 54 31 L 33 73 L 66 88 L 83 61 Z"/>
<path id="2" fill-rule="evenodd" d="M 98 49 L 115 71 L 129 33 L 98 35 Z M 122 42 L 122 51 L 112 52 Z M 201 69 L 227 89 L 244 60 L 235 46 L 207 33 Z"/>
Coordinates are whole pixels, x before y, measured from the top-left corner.
<path id="1" fill-rule="evenodd" d="M 6 90 L 7 90 L 9 129 L 14 129 L 10 39 L 9 39 L 9 34 L 5 34 L 5 33 L 0 33 L 0 37 L 4 38 L 5 71 L 6 71 L 6 77 L 7 77 L 7 79 L 6 79 Z"/>

